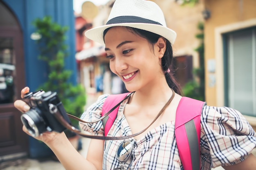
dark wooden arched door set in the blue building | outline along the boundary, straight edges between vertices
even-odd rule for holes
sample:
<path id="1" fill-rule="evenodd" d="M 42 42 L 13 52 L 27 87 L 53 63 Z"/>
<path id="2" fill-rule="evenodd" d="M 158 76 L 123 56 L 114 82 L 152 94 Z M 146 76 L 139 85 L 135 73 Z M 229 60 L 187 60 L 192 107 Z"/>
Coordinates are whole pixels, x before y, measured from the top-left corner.
<path id="1" fill-rule="evenodd" d="M 0 1 L 0 156 L 28 153 L 28 136 L 13 106 L 24 86 L 22 30 L 13 12 Z"/>

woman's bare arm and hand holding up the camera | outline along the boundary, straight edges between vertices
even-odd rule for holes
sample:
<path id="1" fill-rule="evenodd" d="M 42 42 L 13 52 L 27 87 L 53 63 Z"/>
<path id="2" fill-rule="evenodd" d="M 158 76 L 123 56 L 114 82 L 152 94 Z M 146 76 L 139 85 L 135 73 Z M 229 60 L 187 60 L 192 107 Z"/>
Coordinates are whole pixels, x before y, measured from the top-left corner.
<path id="1" fill-rule="evenodd" d="M 21 98 L 24 98 L 24 95 L 29 92 L 29 87 L 25 87 L 21 90 Z M 30 107 L 22 100 L 16 100 L 14 102 L 14 106 L 20 110 L 22 113 L 25 113 L 29 111 Z M 31 135 L 27 128 L 23 126 L 23 131 L 27 133 L 28 135 Z M 31 135 L 32 136 L 32 135 Z M 62 163 L 64 168 L 66 170 L 97 170 L 96 167 L 99 167 L 99 169 L 102 169 L 102 158 L 103 158 L 103 147 L 104 147 L 104 141 L 100 141 L 101 147 L 97 146 L 96 148 L 101 150 L 99 152 L 95 152 L 95 149 L 92 148 L 94 152 L 94 157 L 97 156 L 97 159 L 99 159 L 99 163 L 94 165 L 96 161 L 89 162 L 86 160 L 83 156 L 80 155 L 79 152 L 72 146 L 70 141 L 67 139 L 64 132 L 57 133 L 57 132 L 48 132 L 41 134 L 38 137 L 35 137 L 38 140 L 43 141 L 47 146 L 49 146 L 50 149 L 54 152 L 58 160 Z M 97 150 L 96 149 L 96 150 Z M 100 155 L 100 157 L 99 157 Z"/>

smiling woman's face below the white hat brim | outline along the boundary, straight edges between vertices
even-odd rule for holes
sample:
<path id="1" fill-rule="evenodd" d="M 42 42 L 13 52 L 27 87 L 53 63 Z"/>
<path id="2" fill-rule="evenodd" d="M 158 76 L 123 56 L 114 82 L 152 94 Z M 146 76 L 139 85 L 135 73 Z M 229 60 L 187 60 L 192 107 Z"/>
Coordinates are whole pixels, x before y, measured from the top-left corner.
<path id="1" fill-rule="evenodd" d="M 117 26 L 108 30 L 105 44 L 110 70 L 124 81 L 128 91 L 159 83 L 163 72 L 157 43 L 152 46 L 147 39 Z"/>

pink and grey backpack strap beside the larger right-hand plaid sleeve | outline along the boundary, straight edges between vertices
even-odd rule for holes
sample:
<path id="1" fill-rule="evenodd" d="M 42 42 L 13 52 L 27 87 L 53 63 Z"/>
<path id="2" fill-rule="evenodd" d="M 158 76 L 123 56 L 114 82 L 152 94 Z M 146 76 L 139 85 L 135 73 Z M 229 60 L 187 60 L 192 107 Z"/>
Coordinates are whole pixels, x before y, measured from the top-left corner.
<path id="1" fill-rule="evenodd" d="M 200 169 L 200 116 L 205 102 L 182 97 L 175 118 L 175 137 L 184 170 Z"/>

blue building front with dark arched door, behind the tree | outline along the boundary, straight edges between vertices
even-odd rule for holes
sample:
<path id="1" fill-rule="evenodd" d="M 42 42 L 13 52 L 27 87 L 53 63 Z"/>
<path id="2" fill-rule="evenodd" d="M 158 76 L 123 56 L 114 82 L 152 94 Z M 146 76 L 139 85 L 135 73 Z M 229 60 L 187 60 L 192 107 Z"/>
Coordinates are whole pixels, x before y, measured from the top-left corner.
<path id="1" fill-rule="evenodd" d="M 32 25 L 36 18 L 46 15 L 69 26 L 66 42 L 70 56 L 65 59 L 65 67 L 74 71 L 70 81 L 76 83 L 73 1 L 0 0 L 0 128 L 4 131 L 0 133 L 1 160 L 12 154 L 38 156 L 36 139 L 22 131 L 20 112 L 13 101 L 20 98 L 23 87 L 28 86 L 33 92 L 47 80 L 46 63 L 38 60 Z M 45 153 L 45 148 L 41 149 L 39 152 Z"/>

